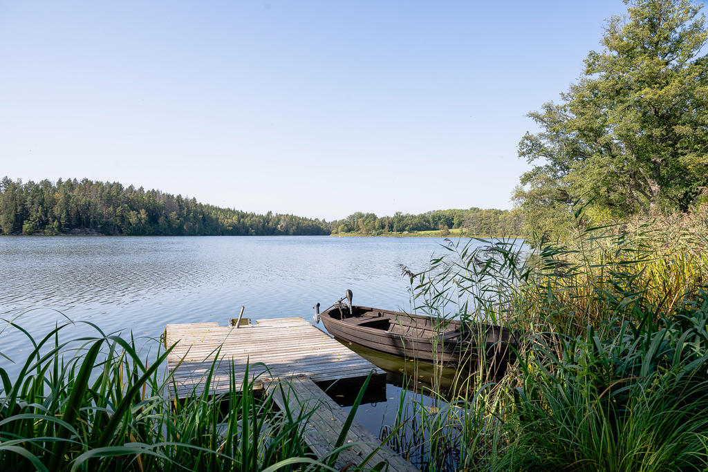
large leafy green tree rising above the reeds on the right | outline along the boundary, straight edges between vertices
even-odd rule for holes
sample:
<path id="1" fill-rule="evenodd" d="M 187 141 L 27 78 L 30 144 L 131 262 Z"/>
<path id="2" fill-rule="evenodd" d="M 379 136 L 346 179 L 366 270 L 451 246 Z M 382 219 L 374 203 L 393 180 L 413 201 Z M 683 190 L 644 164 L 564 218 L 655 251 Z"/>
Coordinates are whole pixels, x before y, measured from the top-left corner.
<path id="1" fill-rule="evenodd" d="M 626 217 L 685 211 L 708 186 L 708 40 L 689 0 L 636 0 L 608 21 L 581 79 L 528 116 L 541 128 L 519 143 L 540 161 L 515 200 L 526 221 L 558 224 L 578 200 Z"/>

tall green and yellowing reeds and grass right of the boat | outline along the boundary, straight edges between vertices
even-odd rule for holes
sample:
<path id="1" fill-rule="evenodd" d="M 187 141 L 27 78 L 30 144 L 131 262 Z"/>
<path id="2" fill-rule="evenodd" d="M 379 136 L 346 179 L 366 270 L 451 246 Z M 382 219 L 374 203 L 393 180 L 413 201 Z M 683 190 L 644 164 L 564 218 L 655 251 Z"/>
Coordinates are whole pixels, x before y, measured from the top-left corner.
<path id="1" fill-rule="evenodd" d="M 426 270 L 404 267 L 418 311 L 525 342 L 501 379 L 484 359 L 460 371 L 449 407 L 401 408 L 416 431 L 396 441 L 425 448 L 430 471 L 703 470 L 707 234 L 706 207 L 599 227 L 578 209 L 563 243 L 447 241 Z"/>

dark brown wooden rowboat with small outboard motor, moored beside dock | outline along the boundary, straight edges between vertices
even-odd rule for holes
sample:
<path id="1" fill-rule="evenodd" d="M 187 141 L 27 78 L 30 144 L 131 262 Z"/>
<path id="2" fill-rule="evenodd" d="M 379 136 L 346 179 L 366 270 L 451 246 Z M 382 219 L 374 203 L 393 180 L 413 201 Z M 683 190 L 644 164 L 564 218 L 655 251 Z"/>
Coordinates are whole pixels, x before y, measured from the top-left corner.
<path id="1" fill-rule="evenodd" d="M 518 345 L 509 328 L 353 305 L 350 290 L 322 313 L 319 304 L 314 309 L 315 321 L 339 340 L 426 362 L 459 363 L 484 352 L 487 362 L 501 367 Z"/>

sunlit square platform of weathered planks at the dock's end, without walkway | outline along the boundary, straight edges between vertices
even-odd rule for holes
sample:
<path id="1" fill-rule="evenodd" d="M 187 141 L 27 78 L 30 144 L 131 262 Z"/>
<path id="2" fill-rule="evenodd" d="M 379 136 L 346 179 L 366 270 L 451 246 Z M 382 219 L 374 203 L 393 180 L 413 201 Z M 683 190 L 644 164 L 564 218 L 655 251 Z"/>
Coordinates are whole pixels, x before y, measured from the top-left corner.
<path id="1" fill-rule="evenodd" d="M 204 376 L 215 361 L 211 393 L 229 390 L 232 363 L 239 379 L 236 388 L 241 388 L 247 363 L 251 378 L 256 381 L 303 374 L 313 381 L 367 376 L 372 371 L 384 374 L 303 318 L 258 320 L 237 329 L 218 323 L 167 325 L 165 345 L 175 343 L 167 357 L 167 367 L 176 383 L 171 393 L 178 398 L 200 393 Z"/>

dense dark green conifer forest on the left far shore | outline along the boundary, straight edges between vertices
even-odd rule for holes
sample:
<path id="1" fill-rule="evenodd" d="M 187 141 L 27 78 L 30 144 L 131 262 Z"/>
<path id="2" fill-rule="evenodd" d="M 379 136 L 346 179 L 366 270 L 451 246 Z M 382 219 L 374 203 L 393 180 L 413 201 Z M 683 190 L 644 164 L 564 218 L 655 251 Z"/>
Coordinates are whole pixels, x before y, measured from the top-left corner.
<path id="1" fill-rule="evenodd" d="M 159 190 L 92 180 L 0 181 L 0 234 L 322 235 L 324 220 L 203 205 Z"/>

